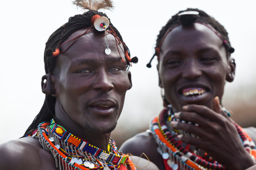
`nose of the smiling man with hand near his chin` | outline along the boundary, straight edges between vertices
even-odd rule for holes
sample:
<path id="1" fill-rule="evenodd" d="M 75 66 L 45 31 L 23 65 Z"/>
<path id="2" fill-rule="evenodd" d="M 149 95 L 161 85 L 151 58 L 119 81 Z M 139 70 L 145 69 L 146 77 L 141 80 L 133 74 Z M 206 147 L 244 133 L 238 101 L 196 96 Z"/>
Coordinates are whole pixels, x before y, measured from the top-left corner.
<path id="1" fill-rule="evenodd" d="M 202 70 L 196 61 L 189 60 L 184 66 L 182 72 L 184 78 L 194 79 L 202 75 Z"/>

